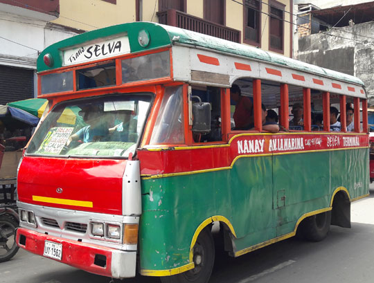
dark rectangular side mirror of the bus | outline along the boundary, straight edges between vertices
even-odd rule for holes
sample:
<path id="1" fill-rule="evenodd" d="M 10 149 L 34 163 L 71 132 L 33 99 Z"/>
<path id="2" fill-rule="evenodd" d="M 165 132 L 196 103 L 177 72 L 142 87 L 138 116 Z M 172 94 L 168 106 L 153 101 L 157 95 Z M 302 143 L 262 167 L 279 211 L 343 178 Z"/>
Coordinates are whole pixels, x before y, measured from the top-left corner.
<path id="1" fill-rule="evenodd" d="M 193 98 L 199 98 L 193 96 Z M 195 102 L 192 104 L 193 126 L 195 134 L 208 134 L 211 131 L 211 104 L 208 102 Z"/>

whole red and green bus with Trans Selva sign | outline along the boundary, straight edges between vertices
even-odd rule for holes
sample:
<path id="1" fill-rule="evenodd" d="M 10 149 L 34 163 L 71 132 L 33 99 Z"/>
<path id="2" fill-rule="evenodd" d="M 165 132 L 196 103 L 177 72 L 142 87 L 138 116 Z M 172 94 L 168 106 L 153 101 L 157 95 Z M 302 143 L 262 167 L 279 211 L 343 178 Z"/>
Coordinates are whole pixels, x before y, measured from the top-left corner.
<path id="1" fill-rule="evenodd" d="M 31 253 L 108 277 L 207 282 L 213 223 L 238 257 L 350 228 L 350 203 L 368 196 L 357 77 L 141 22 L 57 42 L 37 71 L 48 107 L 17 179 L 17 244 Z M 233 84 L 252 102 L 249 129 L 235 128 Z M 262 129 L 262 104 L 280 131 Z"/>

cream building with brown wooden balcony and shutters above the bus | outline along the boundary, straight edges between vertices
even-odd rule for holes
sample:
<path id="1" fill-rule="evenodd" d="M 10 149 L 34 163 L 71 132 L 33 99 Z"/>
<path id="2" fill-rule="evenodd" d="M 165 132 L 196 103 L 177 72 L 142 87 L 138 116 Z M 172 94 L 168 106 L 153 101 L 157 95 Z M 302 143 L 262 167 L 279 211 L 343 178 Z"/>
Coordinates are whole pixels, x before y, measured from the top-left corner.
<path id="1" fill-rule="evenodd" d="M 290 0 L 60 0 L 53 23 L 94 30 L 153 21 L 292 57 L 292 6 Z"/>

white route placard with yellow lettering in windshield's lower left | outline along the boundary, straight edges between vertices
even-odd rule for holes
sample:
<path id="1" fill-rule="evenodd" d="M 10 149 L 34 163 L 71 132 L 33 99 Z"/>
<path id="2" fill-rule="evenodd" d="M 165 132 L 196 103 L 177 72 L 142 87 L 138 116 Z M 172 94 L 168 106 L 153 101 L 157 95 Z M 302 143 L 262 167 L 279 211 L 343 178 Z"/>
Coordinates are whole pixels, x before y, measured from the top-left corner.
<path id="1" fill-rule="evenodd" d="M 73 132 L 73 127 L 55 127 L 48 131 L 39 147 L 39 152 L 45 154 L 60 154 L 64 145 L 66 145 L 69 136 Z"/>

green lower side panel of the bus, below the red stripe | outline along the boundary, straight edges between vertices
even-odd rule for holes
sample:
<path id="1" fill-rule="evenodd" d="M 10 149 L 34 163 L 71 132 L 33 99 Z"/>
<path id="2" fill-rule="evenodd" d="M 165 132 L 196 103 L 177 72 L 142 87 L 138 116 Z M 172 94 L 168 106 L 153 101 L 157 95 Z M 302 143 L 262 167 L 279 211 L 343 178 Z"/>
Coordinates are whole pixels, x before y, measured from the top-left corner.
<path id="1" fill-rule="evenodd" d="M 141 269 L 188 264 L 195 231 L 215 215 L 231 222 L 234 253 L 294 232 L 339 187 L 351 199 L 368 194 L 368 149 L 244 157 L 231 170 L 143 179 Z"/>

